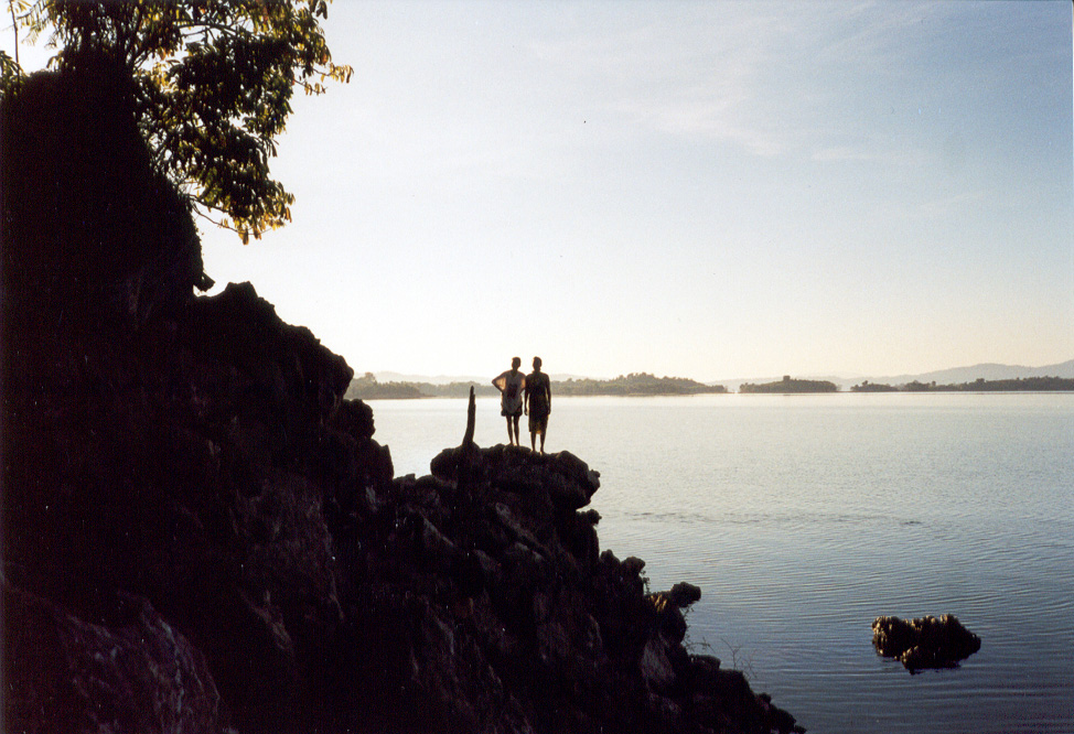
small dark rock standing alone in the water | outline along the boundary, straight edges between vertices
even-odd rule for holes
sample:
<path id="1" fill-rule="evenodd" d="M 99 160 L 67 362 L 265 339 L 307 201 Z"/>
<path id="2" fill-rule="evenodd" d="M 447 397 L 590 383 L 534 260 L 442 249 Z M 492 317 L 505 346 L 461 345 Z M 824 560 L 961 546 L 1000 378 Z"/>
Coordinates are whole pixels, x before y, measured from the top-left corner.
<path id="1" fill-rule="evenodd" d="M 872 623 L 877 652 L 895 658 L 909 670 L 954 668 L 980 649 L 980 638 L 953 614 L 919 619 L 877 617 Z"/>

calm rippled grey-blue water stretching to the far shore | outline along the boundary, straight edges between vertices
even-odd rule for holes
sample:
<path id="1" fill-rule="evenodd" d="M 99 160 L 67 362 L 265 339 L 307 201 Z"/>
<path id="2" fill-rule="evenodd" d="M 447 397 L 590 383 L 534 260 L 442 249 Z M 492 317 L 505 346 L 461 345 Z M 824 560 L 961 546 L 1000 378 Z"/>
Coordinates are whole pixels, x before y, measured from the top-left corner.
<path id="1" fill-rule="evenodd" d="M 372 406 L 397 474 L 462 440 L 465 401 Z M 561 398 L 546 449 L 601 472 L 602 549 L 701 587 L 695 650 L 810 732 L 1074 732 L 1074 395 Z M 959 668 L 873 651 L 878 615 L 944 613 L 982 640 Z"/>

